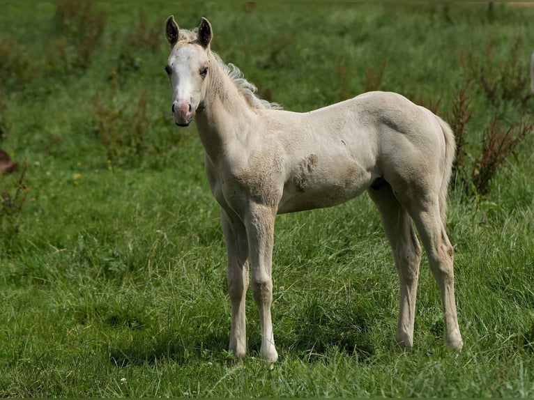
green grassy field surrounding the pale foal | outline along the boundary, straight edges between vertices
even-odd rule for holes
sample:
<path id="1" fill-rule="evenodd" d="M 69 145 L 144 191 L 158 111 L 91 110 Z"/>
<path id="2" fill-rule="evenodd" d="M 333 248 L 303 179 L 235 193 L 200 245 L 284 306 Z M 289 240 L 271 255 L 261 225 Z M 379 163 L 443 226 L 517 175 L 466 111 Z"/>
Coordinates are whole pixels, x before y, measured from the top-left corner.
<path id="1" fill-rule="evenodd" d="M 448 216 L 461 353 L 443 346 L 425 258 L 415 347 L 395 345 L 399 285 L 367 195 L 278 217 L 280 360 L 257 357 L 252 296 L 249 356 L 227 353 L 219 210 L 194 126 L 170 115 L 170 14 L 208 17 L 212 49 L 294 111 L 381 89 L 450 121 L 471 79 Z M 485 4 L 3 3 L 0 148 L 20 169 L 0 176 L 0 396 L 534 397 L 533 135 L 487 192 L 469 180 L 491 118 L 534 110 L 533 20 Z"/>

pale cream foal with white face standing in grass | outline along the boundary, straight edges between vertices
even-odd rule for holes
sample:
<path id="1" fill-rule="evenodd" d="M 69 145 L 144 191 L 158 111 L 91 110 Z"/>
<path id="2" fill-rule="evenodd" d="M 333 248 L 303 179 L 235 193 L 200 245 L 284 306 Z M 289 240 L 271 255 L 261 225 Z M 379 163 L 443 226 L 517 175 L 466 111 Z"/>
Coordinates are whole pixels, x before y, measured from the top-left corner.
<path id="1" fill-rule="evenodd" d="M 169 17 L 171 53 L 165 70 L 178 126 L 194 119 L 204 145 L 206 175 L 221 207 L 231 299 L 229 348 L 246 352 L 245 293 L 261 323 L 260 354 L 277 360 L 270 306 L 275 217 L 334 206 L 367 190 L 379 209 L 400 280 L 395 339 L 413 344 L 421 248 L 441 291 L 445 344 L 462 340 L 455 305 L 452 245 L 445 233 L 447 188 L 455 156 L 450 127 L 396 93 L 370 92 L 307 113 L 260 100 L 254 85 L 211 52 L 211 24 L 178 29 Z"/>

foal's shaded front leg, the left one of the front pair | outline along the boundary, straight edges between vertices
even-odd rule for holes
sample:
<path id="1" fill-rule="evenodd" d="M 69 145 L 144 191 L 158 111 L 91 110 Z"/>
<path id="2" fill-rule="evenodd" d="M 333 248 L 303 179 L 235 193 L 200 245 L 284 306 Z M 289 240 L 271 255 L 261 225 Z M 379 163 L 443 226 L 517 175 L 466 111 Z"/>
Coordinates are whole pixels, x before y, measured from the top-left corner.
<path id="1" fill-rule="evenodd" d="M 245 226 L 221 210 L 222 232 L 227 247 L 227 283 L 231 301 L 229 350 L 241 358 L 247 353 L 245 298 L 248 287 L 248 243 Z"/>

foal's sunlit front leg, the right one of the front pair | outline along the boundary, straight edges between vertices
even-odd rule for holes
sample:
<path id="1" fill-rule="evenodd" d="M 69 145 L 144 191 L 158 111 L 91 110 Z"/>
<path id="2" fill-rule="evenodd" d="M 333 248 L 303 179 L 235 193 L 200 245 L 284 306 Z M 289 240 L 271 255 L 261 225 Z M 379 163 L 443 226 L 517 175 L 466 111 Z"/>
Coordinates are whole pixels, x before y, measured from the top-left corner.
<path id="1" fill-rule="evenodd" d="M 258 307 L 261 324 L 260 355 L 267 362 L 275 362 L 278 358 L 270 316 L 270 305 L 273 302 L 271 270 L 275 217 L 276 211 L 273 208 L 252 202 L 245 215 L 252 268 L 252 296 Z"/>

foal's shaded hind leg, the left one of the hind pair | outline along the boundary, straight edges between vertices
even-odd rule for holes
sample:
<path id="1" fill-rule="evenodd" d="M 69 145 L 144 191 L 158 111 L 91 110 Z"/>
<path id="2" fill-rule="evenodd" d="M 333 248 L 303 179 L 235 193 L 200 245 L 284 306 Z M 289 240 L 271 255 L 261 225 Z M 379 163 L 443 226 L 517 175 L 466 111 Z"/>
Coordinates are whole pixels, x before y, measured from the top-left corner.
<path id="1" fill-rule="evenodd" d="M 379 209 L 399 275 L 399 320 L 395 340 L 399 346 L 411 348 L 421 247 L 415 236 L 410 216 L 395 197 L 391 186 L 383 183 L 380 187 L 369 188 L 368 192 Z"/>

